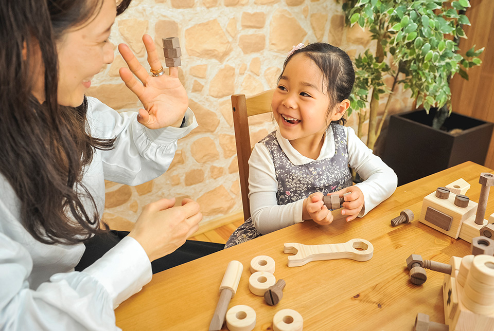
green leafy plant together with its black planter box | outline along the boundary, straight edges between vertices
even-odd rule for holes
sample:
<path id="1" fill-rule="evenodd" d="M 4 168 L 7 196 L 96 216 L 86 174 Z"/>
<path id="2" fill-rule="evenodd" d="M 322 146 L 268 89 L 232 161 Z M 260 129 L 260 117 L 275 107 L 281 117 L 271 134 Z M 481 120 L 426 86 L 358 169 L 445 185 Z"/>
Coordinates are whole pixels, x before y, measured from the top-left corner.
<path id="1" fill-rule="evenodd" d="M 356 80 L 354 93 L 350 99 L 350 108 L 359 117 L 357 133 L 359 136 L 362 134 L 362 123 L 367 116 L 369 118 L 367 138 L 369 148 L 374 149 L 389 113 L 390 101 L 399 84 L 403 84 L 404 89 L 411 90 L 417 107 L 424 107 L 421 111 L 424 116 L 405 114 L 405 121 L 422 121 L 423 123 L 419 123 L 421 129 L 424 129 L 422 126 L 427 126 L 437 131 L 431 127 L 433 116 L 430 115 L 451 114 L 451 90 L 449 88 L 451 77 L 458 73 L 461 77 L 468 79 L 466 71 L 470 67 L 481 64 L 478 56 L 484 50 L 484 48 L 475 49 L 474 46 L 465 54 L 458 52 L 459 38 L 466 38 L 463 25 L 470 25 L 465 15 L 468 7 L 470 7 L 469 0 L 347 0 L 343 3 L 347 24 L 350 26 L 358 24 L 368 29 L 372 33 L 372 38 L 376 40 L 375 51 L 367 49 L 355 60 Z M 390 87 L 384 83 L 386 77 L 393 78 Z M 379 120 L 378 108 L 381 98 L 387 98 L 387 100 Z M 427 115 L 431 108 L 433 108 L 431 112 L 433 114 Z M 397 172 L 400 185 L 454 165 L 449 161 L 450 156 L 439 153 L 441 154 L 437 157 L 439 166 L 432 167 L 431 170 L 425 169 L 423 165 L 415 166 L 414 159 L 418 158 L 421 163 L 425 160 L 416 154 L 417 151 L 425 150 L 425 157 L 430 160 L 434 154 L 437 154 L 436 151 L 443 151 L 449 145 L 454 145 L 449 141 L 451 138 L 449 136 L 452 135 L 445 133 L 449 135 L 447 137 L 449 140 L 445 142 L 435 135 L 424 138 L 423 130 L 412 128 L 409 131 L 413 136 L 410 137 L 405 135 L 407 130 L 401 127 L 398 130 L 392 129 L 394 117 L 391 117 L 387 138 L 390 138 L 396 145 L 396 137 L 390 137 L 390 134 L 396 132 L 403 138 L 402 145 L 389 148 L 389 144 L 386 143 L 382 157 Z M 437 128 L 441 128 L 448 122 L 453 122 L 455 125 L 467 122 L 474 126 L 485 124 L 482 121 L 468 121 L 464 118 L 455 120 L 452 116 L 449 118 L 437 116 L 437 118 L 445 120 L 444 124 L 436 124 Z M 464 132 L 470 134 L 471 128 L 466 127 Z M 487 133 L 489 129 L 490 132 Z M 487 142 L 484 144 L 486 146 L 483 159 L 480 162 L 479 158 L 472 159 L 479 163 L 484 162 L 492 124 L 486 124 L 485 130 L 482 137 L 484 140 L 487 139 Z M 423 139 L 418 139 L 417 135 L 419 135 L 418 138 Z M 461 135 L 453 136 L 453 138 L 459 136 Z M 487 136 L 488 138 L 485 138 Z M 411 148 L 410 144 L 413 142 L 419 144 L 416 149 Z M 439 145 L 434 146 L 432 142 L 438 142 Z M 463 143 L 462 146 L 466 144 Z M 449 146 L 449 148 L 458 149 L 455 146 Z M 404 155 L 407 153 L 403 152 L 407 150 L 411 155 Z M 461 152 L 465 154 L 466 151 Z M 462 162 L 471 158 L 465 155 L 453 157 L 454 162 Z M 411 176 L 411 172 L 416 172 L 416 174 Z"/>

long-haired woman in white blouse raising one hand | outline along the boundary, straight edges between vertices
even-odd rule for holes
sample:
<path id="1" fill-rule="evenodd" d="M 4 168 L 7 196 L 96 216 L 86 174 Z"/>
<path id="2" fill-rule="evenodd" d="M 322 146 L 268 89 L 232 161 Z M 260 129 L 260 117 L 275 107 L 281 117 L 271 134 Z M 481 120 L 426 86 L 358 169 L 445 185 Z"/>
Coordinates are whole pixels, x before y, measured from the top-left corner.
<path id="1" fill-rule="evenodd" d="M 138 115 L 84 96 L 113 61 L 108 36 L 129 3 L 0 2 L 0 329 L 118 329 L 113 309 L 150 281 L 150 261 L 198 229 L 197 203 L 158 200 L 101 259 L 74 271 L 83 242 L 107 232 L 103 179 L 138 185 L 161 175 L 177 139 L 197 126 L 178 69 L 162 75 L 149 36 L 152 76 L 119 46 L 130 68 L 120 76 L 144 105 Z"/>

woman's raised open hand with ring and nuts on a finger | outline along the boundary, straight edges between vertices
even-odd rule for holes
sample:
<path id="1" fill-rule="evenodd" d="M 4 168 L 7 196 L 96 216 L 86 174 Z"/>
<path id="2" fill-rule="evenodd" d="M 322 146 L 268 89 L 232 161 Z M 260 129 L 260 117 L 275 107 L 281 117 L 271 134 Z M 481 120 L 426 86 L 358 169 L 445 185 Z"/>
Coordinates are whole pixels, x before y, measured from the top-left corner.
<path id="1" fill-rule="evenodd" d="M 154 42 L 150 35 L 143 36 L 151 69 L 163 68 Z M 149 128 L 180 126 L 187 111 L 189 100 L 184 86 L 179 80 L 179 69 L 169 68 L 169 75 L 153 77 L 136 59 L 129 46 L 118 45 L 118 51 L 129 68 L 120 68 L 120 77 L 125 85 L 139 98 L 144 108 L 139 109 L 137 120 Z M 130 69 L 130 70 L 129 70 Z M 132 75 L 137 77 L 140 82 Z"/>

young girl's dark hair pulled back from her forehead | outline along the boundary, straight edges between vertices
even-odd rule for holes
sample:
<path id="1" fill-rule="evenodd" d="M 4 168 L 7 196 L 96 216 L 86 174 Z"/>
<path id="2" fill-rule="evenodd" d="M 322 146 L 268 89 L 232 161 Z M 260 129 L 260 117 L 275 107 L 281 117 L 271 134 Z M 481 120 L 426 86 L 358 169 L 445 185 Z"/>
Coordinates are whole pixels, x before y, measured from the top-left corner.
<path id="1" fill-rule="evenodd" d="M 313 43 L 290 54 L 283 64 L 283 71 L 285 71 L 285 67 L 293 56 L 299 53 L 304 53 L 305 56 L 314 61 L 323 73 L 323 86 L 326 83 L 328 88 L 327 95 L 331 99 L 327 114 L 329 116 L 331 109 L 335 105 L 350 97 L 351 89 L 354 86 L 355 70 L 350 57 L 336 46 L 326 43 Z M 283 76 L 283 71 L 280 77 Z M 340 120 L 333 122 L 344 125 L 346 118 L 342 117 Z"/>

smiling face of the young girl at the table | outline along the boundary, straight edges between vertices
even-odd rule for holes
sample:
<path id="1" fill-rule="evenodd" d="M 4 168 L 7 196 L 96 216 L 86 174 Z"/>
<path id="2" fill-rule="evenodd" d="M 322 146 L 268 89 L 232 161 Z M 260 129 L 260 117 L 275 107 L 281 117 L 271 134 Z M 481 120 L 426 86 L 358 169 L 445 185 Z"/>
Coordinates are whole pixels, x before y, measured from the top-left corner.
<path id="1" fill-rule="evenodd" d="M 321 69 L 303 53 L 290 59 L 274 91 L 271 106 L 279 132 L 302 154 L 315 146 L 320 150 L 328 124 L 342 116 L 331 111 L 328 117 L 326 91 Z"/>

